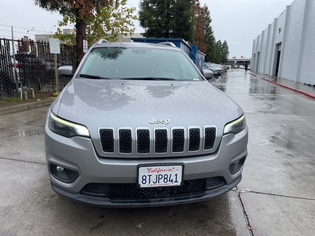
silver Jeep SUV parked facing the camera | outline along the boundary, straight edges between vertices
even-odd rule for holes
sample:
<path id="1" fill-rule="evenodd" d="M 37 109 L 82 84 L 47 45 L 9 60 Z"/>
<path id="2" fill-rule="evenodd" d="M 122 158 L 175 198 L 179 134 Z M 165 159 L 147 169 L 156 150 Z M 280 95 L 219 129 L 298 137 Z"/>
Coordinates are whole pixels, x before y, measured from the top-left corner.
<path id="1" fill-rule="evenodd" d="M 206 200 L 241 181 L 242 109 L 179 48 L 95 44 L 47 113 L 51 186 L 77 201 L 150 207 Z"/>

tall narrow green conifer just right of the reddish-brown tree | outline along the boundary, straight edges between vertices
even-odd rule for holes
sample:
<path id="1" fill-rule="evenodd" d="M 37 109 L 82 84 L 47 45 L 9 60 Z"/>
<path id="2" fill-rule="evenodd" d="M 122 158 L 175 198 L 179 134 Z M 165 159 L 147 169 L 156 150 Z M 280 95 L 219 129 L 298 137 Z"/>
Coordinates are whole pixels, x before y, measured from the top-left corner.
<path id="1" fill-rule="evenodd" d="M 215 48 L 215 43 L 216 43 L 216 38 L 213 33 L 213 29 L 211 26 L 211 15 L 209 8 L 206 4 L 203 6 L 203 14 L 204 14 L 204 26 L 203 26 L 203 31 L 205 35 L 205 44 L 207 45 L 207 50 L 205 52 L 206 57 L 205 61 L 214 61 L 214 48 Z"/>

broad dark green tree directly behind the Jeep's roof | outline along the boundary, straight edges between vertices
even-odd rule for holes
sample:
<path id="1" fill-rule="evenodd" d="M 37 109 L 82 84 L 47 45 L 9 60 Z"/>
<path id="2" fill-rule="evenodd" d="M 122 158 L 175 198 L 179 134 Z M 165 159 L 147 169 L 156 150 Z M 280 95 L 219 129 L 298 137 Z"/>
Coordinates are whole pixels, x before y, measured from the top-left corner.
<path id="1" fill-rule="evenodd" d="M 192 0 L 141 0 L 140 26 L 145 37 L 193 40 Z"/>

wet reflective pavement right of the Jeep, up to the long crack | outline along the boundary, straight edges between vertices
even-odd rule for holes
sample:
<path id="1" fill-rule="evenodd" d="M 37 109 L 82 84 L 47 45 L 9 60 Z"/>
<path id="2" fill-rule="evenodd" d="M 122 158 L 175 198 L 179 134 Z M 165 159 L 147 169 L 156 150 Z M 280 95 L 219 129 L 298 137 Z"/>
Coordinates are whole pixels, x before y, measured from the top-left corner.
<path id="1" fill-rule="evenodd" d="M 247 189 L 240 196 L 253 235 L 315 235 L 315 100 L 243 70 L 210 83 L 246 114 L 249 155 L 238 188 Z"/>

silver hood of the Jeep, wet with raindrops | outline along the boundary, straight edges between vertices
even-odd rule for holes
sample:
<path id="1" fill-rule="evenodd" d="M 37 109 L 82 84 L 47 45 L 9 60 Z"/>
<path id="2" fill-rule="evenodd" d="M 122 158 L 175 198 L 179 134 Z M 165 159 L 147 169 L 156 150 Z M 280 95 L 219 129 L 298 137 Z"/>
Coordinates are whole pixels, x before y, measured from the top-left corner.
<path id="1" fill-rule="evenodd" d="M 222 134 L 227 122 L 243 114 L 234 101 L 207 81 L 72 79 L 60 95 L 52 111 L 87 126 L 95 142 L 98 128 L 104 126 L 153 130 L 215 125 Z M 153 118 L 170 122 L 151 124 Z"/>

